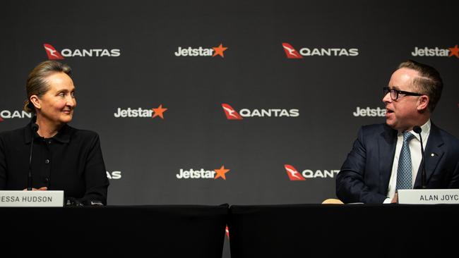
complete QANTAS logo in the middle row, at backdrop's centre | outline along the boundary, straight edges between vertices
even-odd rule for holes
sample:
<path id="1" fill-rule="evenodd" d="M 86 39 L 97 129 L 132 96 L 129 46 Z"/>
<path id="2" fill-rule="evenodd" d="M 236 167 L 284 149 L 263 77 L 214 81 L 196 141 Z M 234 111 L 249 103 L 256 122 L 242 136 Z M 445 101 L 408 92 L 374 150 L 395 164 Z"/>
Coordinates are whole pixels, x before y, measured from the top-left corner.
<path id="1" fill-rule="evenodd" d="M 241 109 L 236 111 L 229 104 L 222 104 L 228 120 L 242 120 L 244 117 L 297 117 L 299 109 Z"/>

